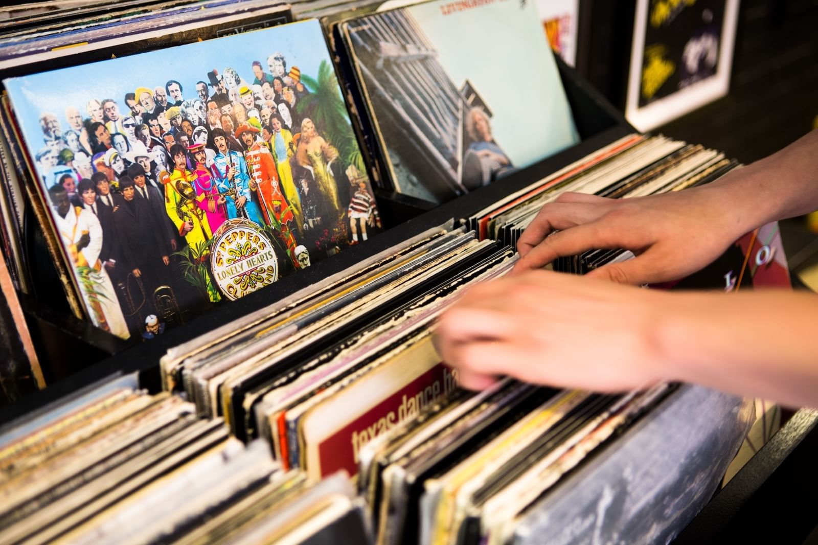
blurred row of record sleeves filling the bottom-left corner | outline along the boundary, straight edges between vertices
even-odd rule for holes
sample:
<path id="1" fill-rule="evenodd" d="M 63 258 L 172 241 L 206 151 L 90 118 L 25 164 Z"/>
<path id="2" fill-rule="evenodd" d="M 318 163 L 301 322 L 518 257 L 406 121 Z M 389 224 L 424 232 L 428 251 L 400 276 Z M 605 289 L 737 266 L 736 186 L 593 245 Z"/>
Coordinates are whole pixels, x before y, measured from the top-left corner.
<path id="1" fill-rule="evenodd" d="M 308 484 L 263 442 L 135 383 L 2 430 L 0 543 L 366 543 L 344 475 Z"/>

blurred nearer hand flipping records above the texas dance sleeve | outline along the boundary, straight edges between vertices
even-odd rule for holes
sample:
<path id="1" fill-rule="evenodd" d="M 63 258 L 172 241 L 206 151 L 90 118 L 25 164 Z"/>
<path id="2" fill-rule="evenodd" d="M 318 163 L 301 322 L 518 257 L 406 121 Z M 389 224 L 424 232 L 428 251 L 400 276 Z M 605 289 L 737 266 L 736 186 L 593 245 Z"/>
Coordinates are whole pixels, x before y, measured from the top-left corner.
<path id="1" fill-rule="evenodd" d="M 596 391 L 668 380 L 659 324 L 673 295 L 549 271 L 474 286 L 435 331 L 443 362 L 480 390 L 498 376 Z M 623 319 L 627 317 L 627 319 Z"/>

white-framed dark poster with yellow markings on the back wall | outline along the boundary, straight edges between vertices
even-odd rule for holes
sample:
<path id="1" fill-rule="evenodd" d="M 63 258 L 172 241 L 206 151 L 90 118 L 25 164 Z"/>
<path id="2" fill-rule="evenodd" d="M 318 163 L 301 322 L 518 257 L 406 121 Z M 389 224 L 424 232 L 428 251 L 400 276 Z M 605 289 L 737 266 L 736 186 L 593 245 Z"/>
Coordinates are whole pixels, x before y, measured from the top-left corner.
<path id="1" fill-rule="evenodd" d="M 724 97 L 739 0 L 638 0 L 625 116 L 640 131 Z"/>

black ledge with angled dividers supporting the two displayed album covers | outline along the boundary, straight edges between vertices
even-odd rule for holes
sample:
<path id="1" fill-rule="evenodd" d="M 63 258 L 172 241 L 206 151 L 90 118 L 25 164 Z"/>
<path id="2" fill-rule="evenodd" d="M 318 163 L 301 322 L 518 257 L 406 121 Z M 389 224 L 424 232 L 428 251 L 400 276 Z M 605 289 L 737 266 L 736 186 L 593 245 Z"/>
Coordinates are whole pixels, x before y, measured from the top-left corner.
<path id="1" fill-rule="evenodd" d="M 23 399 L 16 405 L 16 411 L 7 412 L 4 408 L 0 412 L 0 422 L 10 420 L 12 415 L 19 416 L 22 408 L 42 406 L 63 394 L 113 374 L 140 372 L 146 387 L 151 391 L 158 391 L 159 358 L 169 347 L 199 336 L 202 331 L 223 326 L 233 319 L 262 309 L 425 229 L 440 225 L 449 219 L 457 222 L 461 218 L 466 218 L 475 210 L 502 196 L 518 191 L 537 179 L 581 159 L 591 151 L 636 132 L 599 92 L 583 81 L 571 67 L 565 65 L 559 56 L 555 56 L 555 60 L 581 138 L 577 145 L 526 169 L 511 173 L 500 182 L 480 187 L 443 205 L 375 188 L 375 198 L 381 210 L 381 218 L 384 218 L 385 232 L 364 244 L 353 246 L 330 259 L 315 263 L 299 274 L 282 277 L 274 285 L 263 290 L 246 295 L 240 300 L 222 303 L 212 312 L 201 315 L 182 327 L 166 331 L 156 339 L 121 340 L 88 322 L 75 318 L 64 304 L 56 305 L 55 308 L 55 305 L 44 299 L 24 298 L 23 309 L 28 317 L 29 329 L 48 386 L 46 390 Z M 56 277 L 56 273 L 47 271 L 43 276 Z"/>

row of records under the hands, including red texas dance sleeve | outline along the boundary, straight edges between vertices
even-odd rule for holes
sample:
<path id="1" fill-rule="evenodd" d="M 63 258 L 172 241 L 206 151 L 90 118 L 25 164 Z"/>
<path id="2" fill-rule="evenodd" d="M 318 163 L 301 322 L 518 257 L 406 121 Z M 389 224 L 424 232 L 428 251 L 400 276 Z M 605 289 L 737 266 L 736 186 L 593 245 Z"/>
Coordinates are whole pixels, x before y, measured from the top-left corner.
<path id="1" fill-rule="evenodd" d="M 265 437 L 285 468 L 356 476 L 378 543 L 511 543 L 564 475 L 670 387 L 596 395 L 505 381 L 467 394 L 434 351 L 434 318 L 462 290 L 508 272 L 515 252 L 491 239 L 514 242 L 563 191 L 681 191 L 735 165 L 666 137 L 623 137 L 463 227 L 421 233 L 171 350 L 165 385 L 223 415 L 237 436 Z M 582 273 L 629 257 L 604 250 L 557 265 Z"/>

